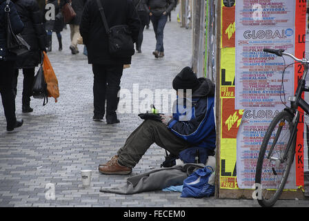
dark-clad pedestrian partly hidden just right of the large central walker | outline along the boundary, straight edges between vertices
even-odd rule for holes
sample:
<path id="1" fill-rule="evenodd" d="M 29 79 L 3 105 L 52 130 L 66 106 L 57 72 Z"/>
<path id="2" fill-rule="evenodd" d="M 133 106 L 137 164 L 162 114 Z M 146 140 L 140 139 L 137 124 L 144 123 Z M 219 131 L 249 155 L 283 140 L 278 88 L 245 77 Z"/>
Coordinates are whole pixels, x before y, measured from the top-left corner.
<path id="1" fill-rule="evenodd" d="M 139 15 L 139 20 L 141 21 L 141 25 L 139 27 L 139 38 L 136 44 L 137 52 L 141 53 L 141 44 L 143 43 L 143 30 L 145 26 L 149 23 L 149 15 L 147 12 L 145 0 L 133 0 L 133 4 L 137 9 L 137 14 Z"/>

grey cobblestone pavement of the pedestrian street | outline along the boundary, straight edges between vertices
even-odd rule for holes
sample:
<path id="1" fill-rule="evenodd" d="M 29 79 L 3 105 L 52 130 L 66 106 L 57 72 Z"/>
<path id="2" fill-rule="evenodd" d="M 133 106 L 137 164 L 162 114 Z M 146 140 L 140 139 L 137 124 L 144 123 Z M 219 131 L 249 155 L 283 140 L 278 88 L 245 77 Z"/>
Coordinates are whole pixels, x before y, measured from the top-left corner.
<path id="1" fill-rule="evenodd" d="M 155 34 L 150 26 L 144 32 L 142 53 L 134 55 L 131 68 L 123 72 L 121 88 L 139 90 L 171 88 L 172 79 L 190 65 L 191 32 L 179 28 L 176 12 L 166 24 L 166 56 L 155 59 Z M 180 198 L 180 193 L 155 191 L 134 195 L 100 193 L 106 188 L 124 184 L 129 175 L 101 175 L 99 163 L 106 162 L 125 142 L 126 137 L 142 121 L 137 113 L 119 114 L 120 124 L 92 121 L 92 70 L 86 56 L 71 55 L 70 31 L 63 30 L 63 51 L 57 50 L 53 35 L 52 52 L 48 53 L 58 77 L 60 97 L 55 104 L 49 99 L 32 99 L 34 112 L 21 113 L 23 75 L 19 74 L 16 99 L 17 117 L 24 124 L 18 133 L 6 133 L 2 106 L 0 111 L 0 206 L 259 206 L 255 200 L 219 200 L 212 198 Z M 134 101 L 132 102 L 133 104 Z M 150 147 L 132 175 L 158 168 L 165 151 Z M 92 184 L 81 185 L 81 169 L 92 169 Z M 46 184 L 54 184 L 55 199 L 48 200 Z M 305 200 L 280 200 L 276 206 L 308 206 Z"/>

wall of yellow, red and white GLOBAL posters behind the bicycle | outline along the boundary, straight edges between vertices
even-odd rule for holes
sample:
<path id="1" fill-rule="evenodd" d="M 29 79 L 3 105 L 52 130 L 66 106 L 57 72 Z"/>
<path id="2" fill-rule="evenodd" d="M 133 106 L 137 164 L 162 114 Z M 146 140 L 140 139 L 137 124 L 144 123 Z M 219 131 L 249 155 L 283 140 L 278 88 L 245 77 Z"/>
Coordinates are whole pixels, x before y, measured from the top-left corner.
<path id="1" fill-rule="evenodd" d="M 282 101 L 294 93 L 295 79 L 303 71 L 297 65 L 286 69 L 284 97 L 281 71 L 292 60 L 266 54 L 263 48 L 283 48 L 303 57 L 306 26 L 299 21 L 306 22 L 306 3 L 299 1 L 221 3 L 220 189 L 252 189 L 263 131 L 283 109 Z M 245 119 L 242 124 L 241 119 Z M 295 155 L 289 189 L 303 184 L 302 130 L 300 124 L 297 144 L 301 148 Z"/>

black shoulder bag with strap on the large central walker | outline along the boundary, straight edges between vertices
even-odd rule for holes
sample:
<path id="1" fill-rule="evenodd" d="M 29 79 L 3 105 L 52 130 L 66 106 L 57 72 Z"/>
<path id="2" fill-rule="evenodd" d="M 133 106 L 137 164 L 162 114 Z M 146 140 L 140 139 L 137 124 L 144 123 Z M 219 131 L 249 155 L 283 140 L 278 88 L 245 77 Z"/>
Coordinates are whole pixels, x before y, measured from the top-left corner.
<path id="1" fill-rule="evenodd" d="M 100 0 L 97 0 L 101 18 L 108 34 L 108 50 L 112 57 L 127 58 L 134 55 L 134 44 L 131 37 L 131 31 L 127 25 L 108 27 L 108 22 L 103 11 Z"/>

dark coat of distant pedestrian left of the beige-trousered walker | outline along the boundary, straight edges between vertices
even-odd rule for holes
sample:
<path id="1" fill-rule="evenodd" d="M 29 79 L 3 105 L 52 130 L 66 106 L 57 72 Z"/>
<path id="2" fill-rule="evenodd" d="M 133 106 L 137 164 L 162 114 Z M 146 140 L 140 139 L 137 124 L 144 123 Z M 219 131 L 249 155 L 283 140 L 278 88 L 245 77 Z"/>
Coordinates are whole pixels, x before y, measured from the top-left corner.
<path id="1" fill-rule="evenodd" d="M 48 20 L 45 23 L 46 30 L 52 30 L 53 32 L 61 32 L 63 30 L 63 16 L 61 14 L 60 6 L 58 0 L 48 0 L 47 3 L 52 3 L 54 5 L 54 20 Z M 47 12 L 47 10 L 46 10 Z"/>

